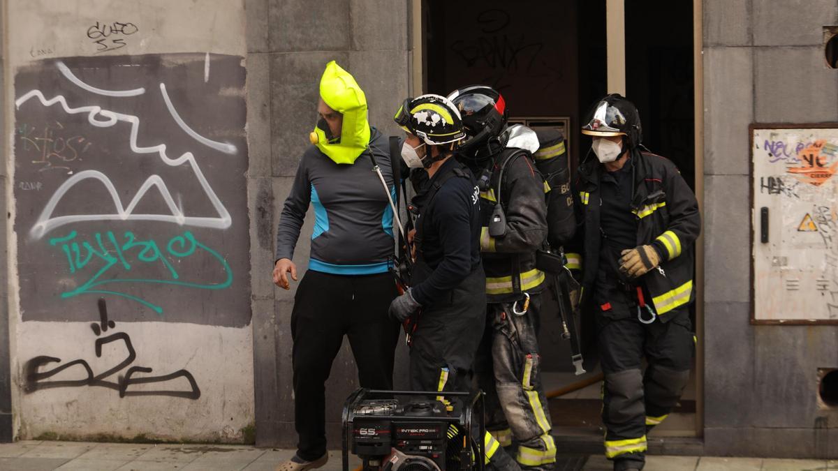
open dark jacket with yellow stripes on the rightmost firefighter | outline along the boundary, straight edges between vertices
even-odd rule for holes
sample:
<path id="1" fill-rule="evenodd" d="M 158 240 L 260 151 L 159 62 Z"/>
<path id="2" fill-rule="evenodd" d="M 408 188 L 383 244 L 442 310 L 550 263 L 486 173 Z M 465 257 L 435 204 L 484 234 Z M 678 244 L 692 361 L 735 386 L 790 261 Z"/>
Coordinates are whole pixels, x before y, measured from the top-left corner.
<path id="1" fill-rule="evenodd" d="M 693 243 L 701 232 L 696 194 L 687 186 L 669 159 L 635 148 L 626 165 L 632 166 L 634 197 L 632 212 L 638 219 L 637 245 L 652 245 L 662 255 L 660 270 L 650 270 L 640 281 L 651 295 L 655 311 L 665 313 L 691 303 L 693 290 Z M 582 271 L 582 307 L 590 306 L 599 269 L 600 177 L 605 171 L 597 160 L 579 166 L 574 184 L 577 229 L 568 247 L 567 267 Z M 648 300 L 647 300 L 648 301 Z"/>

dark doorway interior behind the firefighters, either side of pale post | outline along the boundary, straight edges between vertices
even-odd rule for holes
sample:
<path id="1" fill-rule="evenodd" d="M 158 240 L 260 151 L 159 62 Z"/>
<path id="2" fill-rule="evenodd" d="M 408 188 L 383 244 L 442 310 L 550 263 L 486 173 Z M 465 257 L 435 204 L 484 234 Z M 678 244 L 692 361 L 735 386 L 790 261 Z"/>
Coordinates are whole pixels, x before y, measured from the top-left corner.
<path id="1" fill-rule="evenodd" d="M 491 85 L 510 118 L 567 118 L 571 167 L 591 145 L 580 132 L 588 109 L 607 93 L 606 2 L 461 0 L 423 3 L 426 91 Z M 626 2 L 626 96 L 638 106 L 644 144 L 673 160 L 694 185 L 693 18 L 691 2 Z M 547 301 L 545 301 L 547 303 Z M 574 376 L 568 342 L 554 311 L 542 315 L 541 349 L 548 390 L 589 380 L 551 401 L 554 434 L 601 440 L 596 345 L 587 344 L 589 374 Z M 592 339 L 592 325 L 582 322 Z M 693 435 L 695 386 L 688 386 L 662 432 Z M 660 433 L 660 432 L 656 432 Z"/>

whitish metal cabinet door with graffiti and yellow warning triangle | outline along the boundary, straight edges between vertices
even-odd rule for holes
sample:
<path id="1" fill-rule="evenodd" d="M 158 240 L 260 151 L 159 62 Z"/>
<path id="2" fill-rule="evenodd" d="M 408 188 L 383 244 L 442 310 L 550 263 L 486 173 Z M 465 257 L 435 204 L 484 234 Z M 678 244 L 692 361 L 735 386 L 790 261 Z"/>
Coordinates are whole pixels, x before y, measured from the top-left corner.
<path id="1" fill-rule="evenodd" d="M 753 124 L 753 323 L 838 323 L 838 123 Z"/>

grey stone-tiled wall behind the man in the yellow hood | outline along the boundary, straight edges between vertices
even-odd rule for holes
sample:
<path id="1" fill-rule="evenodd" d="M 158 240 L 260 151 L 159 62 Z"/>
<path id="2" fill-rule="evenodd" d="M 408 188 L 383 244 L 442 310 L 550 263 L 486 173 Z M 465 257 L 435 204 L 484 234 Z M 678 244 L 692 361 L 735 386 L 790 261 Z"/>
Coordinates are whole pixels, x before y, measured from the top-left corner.
<path id="1" fill-rule="evenodd" d="M 294 291 L 275 287 L 271 272 L 282 203 L 315 122 L 320 75 L 329 60 L 337 60 L 364 89 L 370 123 L 395 134 L 392 116 L 408 95 L 409 11 L 408 0 L 246 0 L 257 445 L 297 443 L 291 383 Z M 294 255 L 303 268 L 300 275 L 308 265 L 309 216 Z M 397 384 L 405 386 L 403 349 L 396 362 L 402 366 Z M 340 411 L 357 387 L 348 344 L 326 387 L 329 442 L 337 447 Z"/>

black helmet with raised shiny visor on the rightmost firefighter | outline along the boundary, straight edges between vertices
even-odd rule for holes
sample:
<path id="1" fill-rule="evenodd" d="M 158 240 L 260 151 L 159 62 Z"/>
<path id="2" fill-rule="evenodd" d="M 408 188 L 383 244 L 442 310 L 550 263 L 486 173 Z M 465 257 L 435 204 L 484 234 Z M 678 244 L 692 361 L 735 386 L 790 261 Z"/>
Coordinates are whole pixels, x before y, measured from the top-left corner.
<path id="1" fill-rule="evenodd" d="M 643 141 L 640 114 L 631 101 L 618 93 L 605 96 L 587 112 L 582 134 L 593 137 L 625 136 L 629 148 Z"/>

